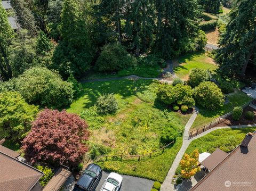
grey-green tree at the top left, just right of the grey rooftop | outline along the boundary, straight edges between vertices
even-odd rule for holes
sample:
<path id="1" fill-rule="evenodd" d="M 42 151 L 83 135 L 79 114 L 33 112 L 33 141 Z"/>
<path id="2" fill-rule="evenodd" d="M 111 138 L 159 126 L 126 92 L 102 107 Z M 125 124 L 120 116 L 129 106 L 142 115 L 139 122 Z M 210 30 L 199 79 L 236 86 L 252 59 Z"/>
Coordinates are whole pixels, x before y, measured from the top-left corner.
<path id="1" fill-rule="evenodd" d="M 11 5 L 17 15 L 17 21 L 22 29 L 27 29 L 30 36 L 36 37 L 37 28 L 33 13 L 25 0 L 12 0 Z"/>

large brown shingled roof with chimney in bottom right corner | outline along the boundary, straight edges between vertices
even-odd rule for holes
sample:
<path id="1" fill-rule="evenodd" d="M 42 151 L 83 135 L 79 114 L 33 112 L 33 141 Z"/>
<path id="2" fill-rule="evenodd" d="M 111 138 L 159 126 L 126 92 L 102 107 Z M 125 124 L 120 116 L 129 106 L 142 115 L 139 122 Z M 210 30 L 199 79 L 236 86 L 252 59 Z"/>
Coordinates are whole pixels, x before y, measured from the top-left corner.
<path id="1" fill-rule="evenodd" d="M 238 146 L 217 167 L 190 190 L 255 190 L 256 188 L 256 135 L 248 147 Z"/>

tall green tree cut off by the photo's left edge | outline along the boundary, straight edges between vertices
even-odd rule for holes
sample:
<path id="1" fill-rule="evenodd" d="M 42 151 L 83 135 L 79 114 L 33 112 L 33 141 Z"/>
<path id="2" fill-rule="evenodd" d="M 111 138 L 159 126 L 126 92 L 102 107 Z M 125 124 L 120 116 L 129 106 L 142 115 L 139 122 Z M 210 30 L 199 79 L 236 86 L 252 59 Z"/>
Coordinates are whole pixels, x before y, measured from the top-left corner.
<path id="1" fill-rule="evenodd" d="M 2 80 L 8 80 L 12 77 L 7 48 L 13 37 L 14 32 L 8 22 L 7 13 L 2 4 L 0 4 L 0 79 Z"/>

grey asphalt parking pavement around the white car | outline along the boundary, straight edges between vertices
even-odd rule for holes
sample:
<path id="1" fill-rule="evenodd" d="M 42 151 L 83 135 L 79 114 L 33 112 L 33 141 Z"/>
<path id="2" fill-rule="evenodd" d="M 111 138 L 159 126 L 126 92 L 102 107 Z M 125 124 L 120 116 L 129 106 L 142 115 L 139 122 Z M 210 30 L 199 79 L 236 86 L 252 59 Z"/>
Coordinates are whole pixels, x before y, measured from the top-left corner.
<path id="1" fill-rule="evenodd" d="M 102 178 L 100 179 L 99 185 L 95 189 L 95 191 L 99 191 L 101 186 L 104 183 L 104 179 L 106 179 L 109 175 L 109 172 L 104 172 L 102 173 Z M 122 175 L 123 177 L 123 184 L 120 189 L 120 191 L 149 191 L 152 186 L 154 181 L 153 180 L 148 180 L 145 178 L 138 178 L 138 177 L 133 177 L 133 176 L 127 176 L 127 175 Z"/>

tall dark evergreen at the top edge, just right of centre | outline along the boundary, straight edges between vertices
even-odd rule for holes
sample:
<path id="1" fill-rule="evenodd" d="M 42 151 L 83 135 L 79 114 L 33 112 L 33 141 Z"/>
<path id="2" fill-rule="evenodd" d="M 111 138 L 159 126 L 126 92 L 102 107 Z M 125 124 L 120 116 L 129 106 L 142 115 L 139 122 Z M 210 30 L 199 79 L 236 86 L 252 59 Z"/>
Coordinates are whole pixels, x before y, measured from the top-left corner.
<path id="1" fill-rule="evenodd" d="M 154 3 L 153 0 L 135 0 L 127 3 L 125 32 L 135 48 L 137 56 L 145 52 L 153 41 Z"/>

